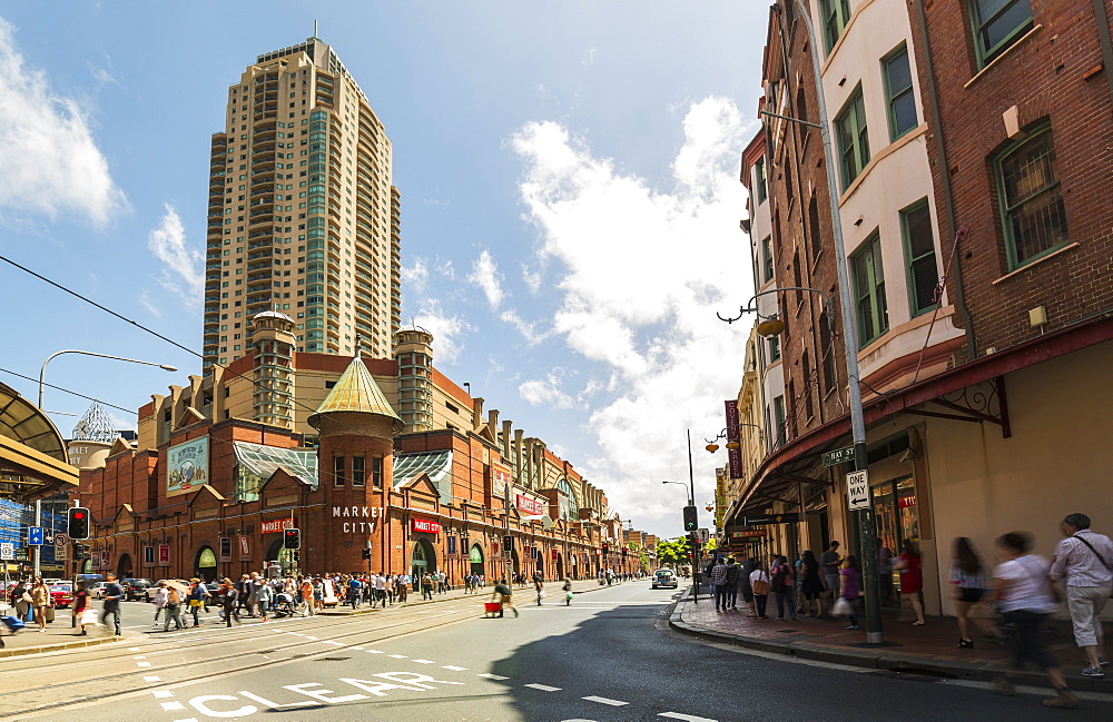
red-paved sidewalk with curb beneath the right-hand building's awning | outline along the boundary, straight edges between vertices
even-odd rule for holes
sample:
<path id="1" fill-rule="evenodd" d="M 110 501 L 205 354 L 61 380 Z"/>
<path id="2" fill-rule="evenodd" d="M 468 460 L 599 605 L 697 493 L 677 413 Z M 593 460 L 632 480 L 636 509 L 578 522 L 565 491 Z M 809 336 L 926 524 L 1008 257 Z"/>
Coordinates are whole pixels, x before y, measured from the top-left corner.
<path id="1" fill-rule="evenodd" d="M 715 600 L 710 596 L 701 594 L 699 603 L 692 603 L 690 589 L 678 602 L 669 625 L 700 639 L 798 659 L 979 681 L 999 676 L 1008 657 L 1004 646 L 983 640 L 982 626 L 976 622 L 971 630 L 974 649 L 962 650 L 958 649 L 958 627 L 954 617 L 927 616 L 927 624 L 913 626 L 910 612 L 907 620 L 900 619 L 896 612 L 886 612 L 883 619 L 885 641 L 866 644 L 861 613 L 858 616 L 863 629 L 859 630 L 845 629 L 846 617 L 798 615 L 795 622 L 778 620 L 776 604 L 770 599 L 771 609 L 766 610 L 769 619 L 757 620 L 747 616 L 748 610 L 741 599 L 738 611 L 717 612 Z M 1045 639 L 1052 654 L 1063 666 L 1072 690 L 1113 693 L 1113 667 L 1107 667 L 1104 680 L 1080 674 L 1086 666 L 1086 657 L 1074 644 L 1070 622 L 1050 625 Z M 1034 670 L 1022 678 L 1022 682 L 1047 685 L 1044 675 Z"/>

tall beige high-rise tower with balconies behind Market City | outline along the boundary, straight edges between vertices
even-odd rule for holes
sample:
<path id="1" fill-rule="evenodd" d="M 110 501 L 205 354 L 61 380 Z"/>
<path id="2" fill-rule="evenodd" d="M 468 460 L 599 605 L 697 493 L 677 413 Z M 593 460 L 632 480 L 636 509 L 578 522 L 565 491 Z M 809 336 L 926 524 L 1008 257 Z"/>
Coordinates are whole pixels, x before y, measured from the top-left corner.
<path id="1" fill-rule="evenodd" d="M 278 310 L 295 348 L 392 353 L 401 319 L 401 201 L 391 141 L 318 38 L 259 56 L 228 88 L 213 135 L 205 366 L 252 350 L 250 318 Z"/>

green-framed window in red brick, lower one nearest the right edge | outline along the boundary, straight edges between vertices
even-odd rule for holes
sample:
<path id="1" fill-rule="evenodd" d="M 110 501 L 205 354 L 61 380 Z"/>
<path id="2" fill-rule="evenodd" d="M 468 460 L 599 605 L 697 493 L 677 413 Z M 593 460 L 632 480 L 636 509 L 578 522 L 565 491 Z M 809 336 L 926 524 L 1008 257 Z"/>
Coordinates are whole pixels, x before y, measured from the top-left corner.
<path id="1" fill-rule="evenodd" d="M 994 161 L 994 174 L 1009 270 L 1067 243 L 1051 126 L 1006 148 Z"/>

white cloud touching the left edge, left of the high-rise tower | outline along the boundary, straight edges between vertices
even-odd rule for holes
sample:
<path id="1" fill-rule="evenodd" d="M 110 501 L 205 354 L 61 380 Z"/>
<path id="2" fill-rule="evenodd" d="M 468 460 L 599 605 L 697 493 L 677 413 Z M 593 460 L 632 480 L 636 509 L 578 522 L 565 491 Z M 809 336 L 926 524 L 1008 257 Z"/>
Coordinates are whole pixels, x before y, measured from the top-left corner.
<path id="1" fill-rule="evenodd" d="M 0 18 L 0 205 L 51 218 L 67 211 L 104 225 L 127 208 L 72 98 L 23 65 L 14 27 Z"/>

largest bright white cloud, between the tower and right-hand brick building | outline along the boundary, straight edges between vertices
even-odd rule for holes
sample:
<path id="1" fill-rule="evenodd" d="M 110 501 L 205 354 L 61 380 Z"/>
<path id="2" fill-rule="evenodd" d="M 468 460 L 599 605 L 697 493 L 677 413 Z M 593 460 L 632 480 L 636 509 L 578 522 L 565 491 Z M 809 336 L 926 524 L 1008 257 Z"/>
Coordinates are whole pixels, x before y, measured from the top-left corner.
<path id="1" fill-rule="evenodd" d="M 700 434 L 717 434 L 722 402 L 741 383 L 746 332 L 715 313 L 752 293 L 737 171 L 752 128 L 729 100 L 707 98 L 688 109 L 683 132 L 669 190 L 593 156 L 555 122 L 512 138 L 536 266 L 559 303 L 552 333 L 594 362 L 579 398 L 597 404 L 587 428 L 598 451 L 585 462 L 577 454 L 577 465 L 624 516 L 660 518 L 682 505 L 660 482 L 687 479 L 686 429 L 696 448 Z M 529 387 L 536 398 L 555 390 Z M 701 454 L 697 502 L 715 479 L 716 459 Z"/>

